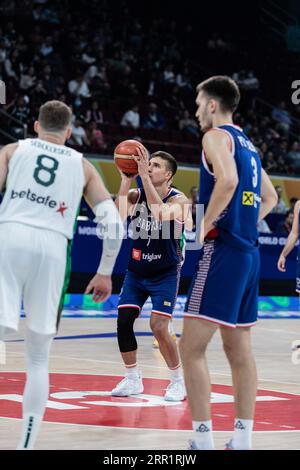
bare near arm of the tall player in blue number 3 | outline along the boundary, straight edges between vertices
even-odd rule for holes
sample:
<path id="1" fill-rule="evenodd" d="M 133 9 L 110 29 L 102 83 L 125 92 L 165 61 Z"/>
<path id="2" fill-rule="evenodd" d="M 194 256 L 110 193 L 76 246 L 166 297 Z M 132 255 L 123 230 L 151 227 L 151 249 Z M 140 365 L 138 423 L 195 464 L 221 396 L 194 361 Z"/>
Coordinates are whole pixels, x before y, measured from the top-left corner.
<path id="1" fill-rule="evenodd" d="M 230 203 L 238 185 L 238 173 L 230 144 L 227 134 L 217 130 L 207 132 L 202 140 L 206 160 L 212 166 L 216 178 L 203 220 L 204 238 L 214 227 L 214 221 Z"/>

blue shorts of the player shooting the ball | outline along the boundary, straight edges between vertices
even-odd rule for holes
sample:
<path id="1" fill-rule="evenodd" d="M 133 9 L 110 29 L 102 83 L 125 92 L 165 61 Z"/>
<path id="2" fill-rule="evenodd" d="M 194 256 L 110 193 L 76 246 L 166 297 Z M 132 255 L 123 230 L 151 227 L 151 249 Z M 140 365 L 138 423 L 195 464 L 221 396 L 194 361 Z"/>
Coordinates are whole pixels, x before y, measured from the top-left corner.
<path id="1" fill-rule="evenodd" d="M 150 297 L 152 313 L 171 318 L 176 304 L 179 280 L 180 266 L 151 277 L 127 271 L 118 308 L 137 308 L 140 314 L 144 303 Z"/>

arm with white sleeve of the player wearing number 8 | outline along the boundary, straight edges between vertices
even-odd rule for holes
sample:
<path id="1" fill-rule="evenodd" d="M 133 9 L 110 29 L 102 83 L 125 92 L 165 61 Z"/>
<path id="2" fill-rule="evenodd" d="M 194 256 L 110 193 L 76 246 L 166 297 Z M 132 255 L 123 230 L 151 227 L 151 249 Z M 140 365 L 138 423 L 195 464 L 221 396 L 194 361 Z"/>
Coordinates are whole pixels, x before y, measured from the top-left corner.
<path id="1" fill-rule="evenodd" d="M 121 248 L 124 228 L 119 212 L 105 188 L 96 168 L 84 159 L 86 185 L 84 198 L 101 224 L 103 247 L 97 274 L 90 281 L 85 293 L 93 292 L 95 302 L 104 302 L 111 294 L 111 274 Z"/>

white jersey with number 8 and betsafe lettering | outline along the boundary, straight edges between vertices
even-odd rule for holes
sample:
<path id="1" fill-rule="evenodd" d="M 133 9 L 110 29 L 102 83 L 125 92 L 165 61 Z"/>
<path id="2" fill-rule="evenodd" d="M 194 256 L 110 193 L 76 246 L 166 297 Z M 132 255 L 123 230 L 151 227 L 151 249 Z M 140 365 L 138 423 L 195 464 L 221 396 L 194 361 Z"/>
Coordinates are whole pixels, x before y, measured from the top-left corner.
<path id="1" fill-rule="evenodd" d="M 84 184 L 81 153 L 41 139 L 20 140 L 9 162 L 0 223 L 54 230 L 71 239 Z"/>

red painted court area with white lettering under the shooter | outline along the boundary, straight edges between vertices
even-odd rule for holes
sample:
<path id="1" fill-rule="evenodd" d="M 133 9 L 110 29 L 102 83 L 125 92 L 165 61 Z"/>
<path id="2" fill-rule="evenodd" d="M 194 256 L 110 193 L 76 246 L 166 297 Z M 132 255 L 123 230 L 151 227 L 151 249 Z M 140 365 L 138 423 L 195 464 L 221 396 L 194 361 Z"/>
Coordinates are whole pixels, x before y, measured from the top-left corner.
<path id="1" fill-rule="evenodd" d="M 143 379 L 144 393 L 132 398 L 110 396 L 122 377 L 85 374 L 51 374 L 45 421 L 89 426 L 190 430 L 187 401 L 163 400 L 167 380 Z M 0 417 L 21 418 L 25 374 L 0 373 Z M 212 386 L 214 430 L 233 425 L 232 387 Z M 300 430 L 300 395 L 259 390 L 255 431 Z"/>

